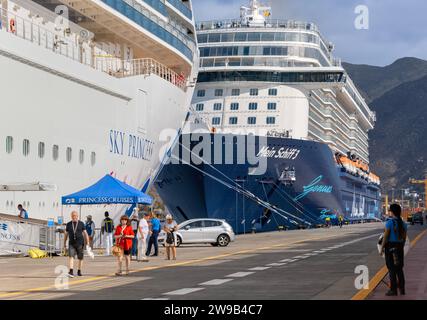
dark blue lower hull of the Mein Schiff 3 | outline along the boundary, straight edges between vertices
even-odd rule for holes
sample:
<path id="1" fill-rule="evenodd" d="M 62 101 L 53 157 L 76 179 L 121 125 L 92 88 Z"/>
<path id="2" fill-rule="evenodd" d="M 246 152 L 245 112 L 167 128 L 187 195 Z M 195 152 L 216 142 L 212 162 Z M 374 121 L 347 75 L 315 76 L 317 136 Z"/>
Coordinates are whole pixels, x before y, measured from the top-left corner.
<path id="1" fill-rule="evenodd" d="M 182 161 L 183 148 L 189 149 L 182 146 L 190 140 L 184 135 L 173 150 L 172 158 L 179 158 L 180 163 L 165 165 L 155 183 L 161 198 L 178 220 L 220 218 L 227 220 L 236 233 L 245 233 L 314 227 L 322 223 L 325 216 L 354 218 L 357 213 L 357 217 L 372 218 L 379 214 L 378 187 L 341 172 L 326 144 L 256 137 L 255 153 L 259 159 L 266 158 L 266 167 L 264 172 L 253 174 L 254 165 L 248 163 L 248 159 L 238 163 L 238 136 L 201 136 L 192 142 L 191 148 L 194 150 L 202 140 L 212 141 L 212 161 L 196 163 L 199 161 L 194 160 L 200 160 L 198 156 L 187 163 Z M 225 161 L 227 143 L 223 144 L 223 162 L 215 163 L 213 158 L 218 149 L 214 148 L 214 140 L 230 142 L 233 138 L 233 163 Z M 246 145 L 250 144 L 248 137 L 240 138 Z M 295 173 L 294 181 L 281 178 L 289 168 Z M 357 189 L 356 195 L 350 193 L 351 186 Z M 357 212 L 354 208 L 358 208 Z"/>

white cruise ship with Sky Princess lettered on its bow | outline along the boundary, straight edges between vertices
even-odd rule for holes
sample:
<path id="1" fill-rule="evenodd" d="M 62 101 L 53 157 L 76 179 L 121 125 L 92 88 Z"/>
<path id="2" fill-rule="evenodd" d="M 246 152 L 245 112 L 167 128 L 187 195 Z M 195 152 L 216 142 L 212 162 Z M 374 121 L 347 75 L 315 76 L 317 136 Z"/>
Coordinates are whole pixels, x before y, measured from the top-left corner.
<path id="1" fill-rule="evenodd" d="M 191 1 L 0 0 L 0 12 L 0 213 L 68 218 L 61 196 L 105 174 L 153 181 L 197 77 Z"/>

